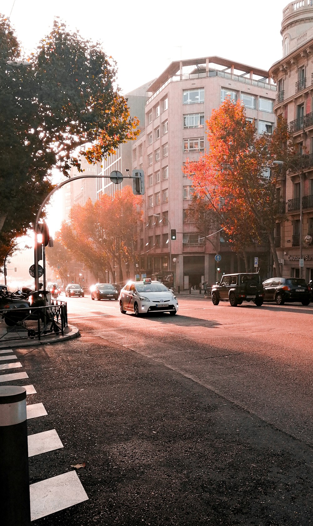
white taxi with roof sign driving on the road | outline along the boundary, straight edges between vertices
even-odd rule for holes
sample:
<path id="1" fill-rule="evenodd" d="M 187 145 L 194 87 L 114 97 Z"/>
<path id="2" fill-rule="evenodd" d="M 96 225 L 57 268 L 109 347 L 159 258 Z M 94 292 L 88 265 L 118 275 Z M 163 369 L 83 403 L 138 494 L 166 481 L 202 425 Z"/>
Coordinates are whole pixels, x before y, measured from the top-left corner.
<path id="1" fill-rule="evenodd" d="M 159 281 L 144 279 L 129 281 L 119 293 L 119 308 L 122 314 L 134 312 L 136 316 L 147 312 L 169 312 L 174 316 L 178 301 L 173 292 Z"/>

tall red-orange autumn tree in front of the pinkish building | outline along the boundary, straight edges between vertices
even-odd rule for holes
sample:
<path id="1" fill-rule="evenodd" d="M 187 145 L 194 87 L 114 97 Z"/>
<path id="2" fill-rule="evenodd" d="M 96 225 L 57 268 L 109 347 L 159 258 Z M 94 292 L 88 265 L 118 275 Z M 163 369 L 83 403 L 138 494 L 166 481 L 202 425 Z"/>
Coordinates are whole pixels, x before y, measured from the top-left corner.
<path id="1" fill-rule="evenodd" d="M 244 248 L 251 241 L 268 240 L 279 275 L 274 242 L 278 170 L 273 161 L 292 154 L 286 124 L 279 120 L 273 134 L 257 136 L 240 100 L 234 104 L 226 98 L 213 110 L 206 133 L 209 152 L 188 161 L 184 173 L 235 245 Z"/>

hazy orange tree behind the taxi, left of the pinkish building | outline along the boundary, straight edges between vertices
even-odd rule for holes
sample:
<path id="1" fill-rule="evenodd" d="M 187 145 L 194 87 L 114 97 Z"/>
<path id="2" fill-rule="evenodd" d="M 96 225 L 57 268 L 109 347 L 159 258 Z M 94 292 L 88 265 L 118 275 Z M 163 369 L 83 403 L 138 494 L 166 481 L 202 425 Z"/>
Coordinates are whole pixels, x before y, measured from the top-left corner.
<path id="1" fill-rule="evenodd" d="M 141 196 L 134 196 L 125 186 L 114 197 L 103 195 L 95 204 L 88 199 L 84 206 L 75 205 L 69 222 L 63 223 L 60 239 L 78 261 L 96 274 L 108 268 L 116 280 L 123 282 L 124 264 L 137 260 L 137 232 L 142 221 Z"/>

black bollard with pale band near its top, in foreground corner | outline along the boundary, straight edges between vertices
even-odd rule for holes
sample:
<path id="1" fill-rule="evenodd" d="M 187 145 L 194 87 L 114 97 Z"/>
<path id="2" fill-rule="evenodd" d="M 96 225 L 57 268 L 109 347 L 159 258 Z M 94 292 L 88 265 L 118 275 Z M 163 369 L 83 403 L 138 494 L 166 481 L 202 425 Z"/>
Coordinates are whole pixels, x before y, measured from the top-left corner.
<path id="1" fill-rule="evenodd" d="M 1 523 L 30 526 L 25 387 L 0 387 Z"/>

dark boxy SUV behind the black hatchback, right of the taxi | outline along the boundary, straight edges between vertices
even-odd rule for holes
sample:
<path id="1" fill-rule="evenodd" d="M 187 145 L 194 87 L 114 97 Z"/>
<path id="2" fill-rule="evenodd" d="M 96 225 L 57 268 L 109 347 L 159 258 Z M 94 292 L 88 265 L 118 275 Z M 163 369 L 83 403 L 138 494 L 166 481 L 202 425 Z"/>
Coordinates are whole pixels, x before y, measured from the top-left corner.
<path id="1" fill-rule="evenodd" d="M 231 307 L 237 307 L 243 301 L 253 301 L 260 307 L 264 300 L 264 288 L 259 274 L 224 274 L 220 283 L 212 287 L 211 297 L 213 305 L 229 301 Z"/>

